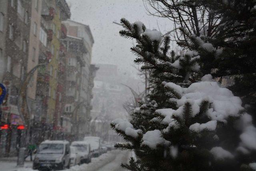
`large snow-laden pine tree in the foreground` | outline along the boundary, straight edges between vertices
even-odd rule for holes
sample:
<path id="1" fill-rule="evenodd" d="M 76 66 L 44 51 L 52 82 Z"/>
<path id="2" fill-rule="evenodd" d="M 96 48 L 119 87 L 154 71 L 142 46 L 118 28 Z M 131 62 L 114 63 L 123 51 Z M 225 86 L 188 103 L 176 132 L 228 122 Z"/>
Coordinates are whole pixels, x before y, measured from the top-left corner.
<path id="1" fill-rule="evenodd" d="M 154 70 L 155 98 L 140 103 L 136 111 L 144 119 L 140 129 L 123 119 L 111 127 L 124 137 L 117 149 L 131 150 L 131 158 L 122 167 L 130 170 L 226 171 L 252 170 L 256 165 L 256 128 L 244 111 L 240 98 L 222 88 L 210 73 L 199 82 L 198 52 L 175 57 L 169 53 L 168 37 L 159 47 L 160 32 L 148 30 L 141 22 L 121 19 L 121 36 L 135 38 L 131 48 L 144 64 L 142 70 Z M 198 39 L 197 37 L 191 37 Z M 205 44 L 205 48 L 212 47 Z M 191 41 L 191 44 L 193 42 Z M 194 45 L 196 46 L 196 45 Z M 214 50 L 209 55 L 218 55 Z M 174 56 L 173 56 L 174 57 Z M 204 71 L 206 72 L 206 71 Z M 159 92 L 159 93 L 158 93 Z M 158 99 L 160 104 L 158 105 Z"/>

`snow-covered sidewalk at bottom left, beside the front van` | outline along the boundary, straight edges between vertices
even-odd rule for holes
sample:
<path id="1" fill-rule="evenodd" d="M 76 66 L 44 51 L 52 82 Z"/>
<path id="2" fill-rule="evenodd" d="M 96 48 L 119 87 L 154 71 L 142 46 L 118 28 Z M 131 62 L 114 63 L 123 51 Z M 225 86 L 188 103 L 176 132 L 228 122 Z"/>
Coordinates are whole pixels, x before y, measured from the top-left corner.
<path id="1" fill-rule="evenodd" d="M 0 157 L 0 171 L 33 171 L 30 157 L 27 157 L 24 167 L 16 167 L 16 165 L 17 157 Z"/>

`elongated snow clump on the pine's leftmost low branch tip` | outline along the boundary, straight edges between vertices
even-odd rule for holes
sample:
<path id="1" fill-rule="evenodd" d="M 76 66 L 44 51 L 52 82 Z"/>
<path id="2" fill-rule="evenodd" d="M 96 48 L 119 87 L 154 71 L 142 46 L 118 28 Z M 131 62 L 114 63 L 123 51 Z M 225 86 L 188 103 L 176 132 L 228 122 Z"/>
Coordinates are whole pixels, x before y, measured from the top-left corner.
<path id="1" fill-rule="evenodd" d="M 138 132 L 141 131 L 141 129 L 133 129 L 133 125 L 124 119 L 115 119 L 111 123 L 115 125 L 116 129 L 124 131 L 126 135 L 132 136 L 134 138 L 137 138 Z"/>

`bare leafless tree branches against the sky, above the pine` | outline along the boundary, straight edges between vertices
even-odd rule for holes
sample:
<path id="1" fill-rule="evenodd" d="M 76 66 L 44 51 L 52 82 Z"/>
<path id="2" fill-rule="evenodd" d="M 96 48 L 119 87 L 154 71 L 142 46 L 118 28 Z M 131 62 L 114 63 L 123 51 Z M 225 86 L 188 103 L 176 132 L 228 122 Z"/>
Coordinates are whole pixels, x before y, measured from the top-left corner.
<path id="1" fill-rule="evenodd" d="M 179 27 L 186 28 L 190 34 L 214 36 L 216 26 L 220 24 L 214 12 L 200 6 L 194 0 L 143 0 L 148 14 L 168 18 L 174 24 L 174 39 L 182 40 Z M 171 32 L 170 32 L 171 33 Z M 170 34 L 166 33 L 166 34 Z"/>

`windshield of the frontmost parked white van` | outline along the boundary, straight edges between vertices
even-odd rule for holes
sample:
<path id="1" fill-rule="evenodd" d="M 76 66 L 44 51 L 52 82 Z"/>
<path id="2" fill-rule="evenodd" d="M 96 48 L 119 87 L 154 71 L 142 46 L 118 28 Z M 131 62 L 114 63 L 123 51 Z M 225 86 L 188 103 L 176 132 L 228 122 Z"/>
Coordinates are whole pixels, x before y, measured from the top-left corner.
<path id="1" fill-rule="evenodd" d="M 62 154 L 64 151 L 63 144 L 41 144 L 39 146 L 39 153 L 47 154 Z"/>

